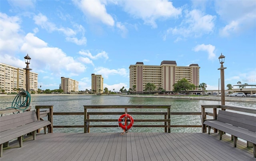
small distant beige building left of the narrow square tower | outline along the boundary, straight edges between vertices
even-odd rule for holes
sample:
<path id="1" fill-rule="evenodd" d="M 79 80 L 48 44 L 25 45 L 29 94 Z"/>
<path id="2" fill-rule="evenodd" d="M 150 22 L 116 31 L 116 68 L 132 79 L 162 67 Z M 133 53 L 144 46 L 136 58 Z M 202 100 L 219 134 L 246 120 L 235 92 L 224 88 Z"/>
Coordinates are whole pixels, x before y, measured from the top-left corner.
<path id="1" fill-rule="evenodd" d="M 70 78 L 61 77 L 61 89 L 63 93 L 70 93 L 71 91 L 78 91 L 79 82 Z"/>

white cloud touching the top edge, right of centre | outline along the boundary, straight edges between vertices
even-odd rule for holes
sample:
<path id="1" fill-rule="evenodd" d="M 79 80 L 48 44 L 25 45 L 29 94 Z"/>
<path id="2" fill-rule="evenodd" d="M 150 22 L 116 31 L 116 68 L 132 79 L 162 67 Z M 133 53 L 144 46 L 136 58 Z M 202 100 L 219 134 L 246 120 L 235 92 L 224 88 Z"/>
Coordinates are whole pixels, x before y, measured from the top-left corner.
<path id="1" fill-rule="evenodd" d="M 157 28 L 156 20 L 177 18 L 180 8 L 175 8 L 168 0 L 127 0 L 121 1 L 124 10 L 135 18 L 141 18 L 145 24 Z"/>

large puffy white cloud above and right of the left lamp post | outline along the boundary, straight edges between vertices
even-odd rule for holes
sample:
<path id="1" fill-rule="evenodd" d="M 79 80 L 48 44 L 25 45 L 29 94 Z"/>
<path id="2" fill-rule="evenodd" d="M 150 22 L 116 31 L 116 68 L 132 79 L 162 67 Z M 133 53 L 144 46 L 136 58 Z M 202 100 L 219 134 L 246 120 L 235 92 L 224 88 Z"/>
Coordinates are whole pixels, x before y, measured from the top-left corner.
<path id="1" fill-rule="evenodd" d="M 50 70 L 54 76 L 59 76 L 68 71 L 70 76 L 78 75 L 86 70 L 86 67 L 72 57 L 67 56 L 59 48 L 48 47 L 47 43 L 28 33 L 24 37 L 24 44 L 20 48 L 23 53 L 28 53 L 36 70 Z"/>

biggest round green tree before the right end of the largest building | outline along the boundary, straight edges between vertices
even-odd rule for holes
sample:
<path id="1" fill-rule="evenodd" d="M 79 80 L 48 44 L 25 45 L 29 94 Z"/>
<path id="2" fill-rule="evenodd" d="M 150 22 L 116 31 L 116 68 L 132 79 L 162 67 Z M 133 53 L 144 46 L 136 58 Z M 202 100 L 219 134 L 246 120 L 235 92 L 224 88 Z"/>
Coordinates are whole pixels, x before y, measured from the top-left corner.
<path id="1" fill-rule="evenodd" d="M 185 93 L 188 94 L 189 90 L 194 90 L 196 86 L 192 83 L 189 83 L 186 78 L 182 78 L 181 80 L 177 81 L 177 83 L 174 83 L 173 85 L 173 91 L 178 92 L 178 91 L 184 91 Z"/>

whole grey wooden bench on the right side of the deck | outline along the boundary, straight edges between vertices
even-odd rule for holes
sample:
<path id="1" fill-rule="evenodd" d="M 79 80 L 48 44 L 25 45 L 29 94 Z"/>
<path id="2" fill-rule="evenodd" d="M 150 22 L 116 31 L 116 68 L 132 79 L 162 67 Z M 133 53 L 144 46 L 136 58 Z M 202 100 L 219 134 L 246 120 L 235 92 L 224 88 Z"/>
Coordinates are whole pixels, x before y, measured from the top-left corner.
<path id="1" fill-rule="evenodd" d="M 256 157 L 256 117 L 234 113 L 229 111 L 218 111 L 216 120 L 206 120 L 205 125 L 208 125 L 208 134 L 210 134 L 211 127 L 218 129 L 220 133 L 220 140 L 223 132 L 232 135 L 234 140 L 234 147 L 236 147 L 237 138 L 244 139 L 248 147 L 253 147 L 253 155 Z"/>

